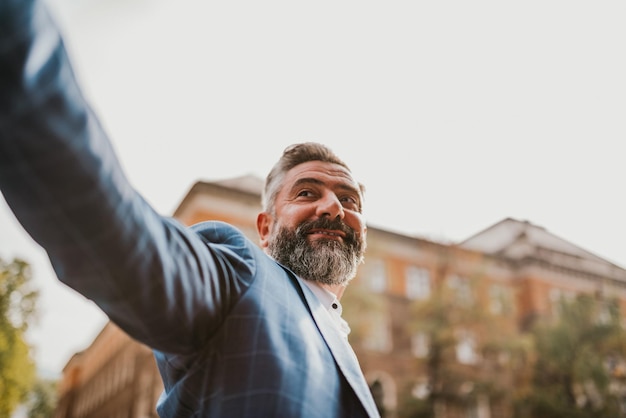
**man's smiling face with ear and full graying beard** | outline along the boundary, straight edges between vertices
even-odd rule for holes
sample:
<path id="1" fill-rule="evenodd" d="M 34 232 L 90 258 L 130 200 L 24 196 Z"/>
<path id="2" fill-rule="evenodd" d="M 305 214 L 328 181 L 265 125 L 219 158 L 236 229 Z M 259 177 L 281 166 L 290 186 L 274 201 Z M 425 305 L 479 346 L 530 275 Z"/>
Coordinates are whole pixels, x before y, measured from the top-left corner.
<path id="1" fill-rule="evenodd" d="M 361 205 L 360 188 L 345 168 L 300 164 L 287 173 L 274 216 L 259 216 L 261 245 L 304 279 L 345 285 L 365 251 Z"/>

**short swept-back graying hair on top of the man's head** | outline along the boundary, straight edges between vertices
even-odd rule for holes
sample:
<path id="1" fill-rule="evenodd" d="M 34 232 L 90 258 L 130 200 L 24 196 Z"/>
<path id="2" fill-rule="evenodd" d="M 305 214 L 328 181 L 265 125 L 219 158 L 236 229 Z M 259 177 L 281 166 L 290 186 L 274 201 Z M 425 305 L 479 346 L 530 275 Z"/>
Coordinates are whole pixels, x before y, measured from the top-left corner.
<path id="1" fill-rule="evenodd" d="M 295 166 L 309 161 L 338 164 L 350 172 L 350 167 L 325 145 L 316 142 L 303 142 L 290 145 L 285 148 L 283 155 L 276 164 L 274 164 L 274 167 L 272 167 L 265 179 L 265 188 L 261 196 L 261 204 L 263 205 L 264 211 L 274 214 L 276 196 L 283 185 L 287 172 Z M 365 188 L 362 184 L 359 184 L 359 187 L 362 194 Z"/>

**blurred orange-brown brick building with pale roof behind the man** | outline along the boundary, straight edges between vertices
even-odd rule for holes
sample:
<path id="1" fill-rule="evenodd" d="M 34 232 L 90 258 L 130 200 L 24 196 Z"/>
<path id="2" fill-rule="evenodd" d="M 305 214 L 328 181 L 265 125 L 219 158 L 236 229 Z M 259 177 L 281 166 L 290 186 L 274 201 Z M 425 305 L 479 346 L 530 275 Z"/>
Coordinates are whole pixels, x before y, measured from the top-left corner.
<path id="1" fill-rule="evenodd" d="M 262 182 L 242 177 L 199 182 L 174 213 L 186 225 L 207 219 L 238 226 L 256 240 Z M 626 312 L 626 270 L 526 221 L 504 219 L 456 245 L 368 226 L 366 262 L 344 295 L 344 316 L 366 379 L 387 418 L 428 388 L 417 361 L 428 340 L 411 329 L 414 305 L 445 284 L 461 304 L 476 303 L 499 317 L 499 333 L 520 333 L 534 318 L 550 315 L 558 301 L 577 293 L 616 297 Z M 459 367 L 481 367 L 471 327 L 457 330 Z M 483 331 L 484 332 L 484 331 Z M 489 373 L 492 373 L 491 375 Z M 503 390 L 515 384 L 506 371 L 483 367 Z M 458 390 L 468 389 L 463 385 Z M 471 389 L 471 388 L 470 388 Z M 63 370 L 55 418 L 156 417 L 162 390 L 150 350 L 107 324 Z M 442 406 L 442 418 L 510 416 L 506 396 L 472 398 Z"/>

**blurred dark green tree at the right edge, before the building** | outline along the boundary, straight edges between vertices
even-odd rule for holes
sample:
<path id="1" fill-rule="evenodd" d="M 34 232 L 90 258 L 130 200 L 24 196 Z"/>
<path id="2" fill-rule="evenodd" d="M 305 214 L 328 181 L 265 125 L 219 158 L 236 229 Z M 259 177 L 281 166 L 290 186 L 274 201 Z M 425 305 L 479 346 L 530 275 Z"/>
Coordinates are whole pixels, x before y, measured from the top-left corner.
<path id="1" fill-rule="evenodd" d="M 562 300 L 556 320 L 537 322 L 532 335 L 537 362 L 519 416 L 626 416 L 626 332 L 616 301 Z"/>

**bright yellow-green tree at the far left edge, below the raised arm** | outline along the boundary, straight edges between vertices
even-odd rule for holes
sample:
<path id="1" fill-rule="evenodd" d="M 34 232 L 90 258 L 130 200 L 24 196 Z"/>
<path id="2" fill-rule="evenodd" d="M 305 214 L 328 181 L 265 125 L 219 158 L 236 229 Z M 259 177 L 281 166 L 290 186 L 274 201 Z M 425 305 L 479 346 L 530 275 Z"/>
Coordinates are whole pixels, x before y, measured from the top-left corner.
<path id="1" fill-rule="evenodd" d="M 34 317 L 38 293 L 28 263 L 0 258 L 0 416 L 8 417 L 26 399 L 35 365 L 24 334 Z"/>

